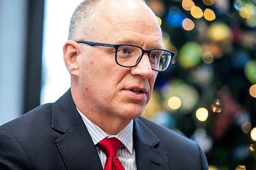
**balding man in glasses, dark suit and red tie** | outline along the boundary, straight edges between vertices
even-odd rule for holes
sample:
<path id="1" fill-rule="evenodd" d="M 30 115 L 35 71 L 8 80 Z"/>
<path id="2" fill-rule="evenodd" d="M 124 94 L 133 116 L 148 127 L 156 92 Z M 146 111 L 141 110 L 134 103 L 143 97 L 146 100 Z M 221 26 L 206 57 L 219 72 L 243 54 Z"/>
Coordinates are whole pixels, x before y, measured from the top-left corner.
<path id="1" fill-rule="evenodd" d="M 84 1 L 63 46 L 71 89 L 0 127 L 0 169 L 208 169 L 196 142 L 140 117 L 162 48 L 144 2 Z"/>

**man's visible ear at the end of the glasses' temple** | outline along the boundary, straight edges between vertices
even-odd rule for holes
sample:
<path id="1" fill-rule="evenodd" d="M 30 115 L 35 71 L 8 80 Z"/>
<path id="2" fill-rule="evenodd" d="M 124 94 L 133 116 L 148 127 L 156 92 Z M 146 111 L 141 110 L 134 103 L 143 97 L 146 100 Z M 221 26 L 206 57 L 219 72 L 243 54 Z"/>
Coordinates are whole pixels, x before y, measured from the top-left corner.
<path id="1" fill-rule="evenodd" d="M 79 58 L 81 55 L 80 45 L 72 40 L 68 40 L 63 46 L 63 57 L 70 75 L 79 77 Z"/>

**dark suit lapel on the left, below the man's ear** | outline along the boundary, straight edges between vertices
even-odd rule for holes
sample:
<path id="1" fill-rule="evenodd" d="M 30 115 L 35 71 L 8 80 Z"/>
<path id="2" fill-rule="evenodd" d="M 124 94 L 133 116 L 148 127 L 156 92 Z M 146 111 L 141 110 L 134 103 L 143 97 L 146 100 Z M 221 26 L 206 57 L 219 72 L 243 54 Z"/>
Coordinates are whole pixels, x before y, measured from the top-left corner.
<path id="1" fill-rule="evenodd" d="M 67 169 L 103 169 L 70 90 L 53 104 L 51 127 L 61 133 L 55 143 Z"/>

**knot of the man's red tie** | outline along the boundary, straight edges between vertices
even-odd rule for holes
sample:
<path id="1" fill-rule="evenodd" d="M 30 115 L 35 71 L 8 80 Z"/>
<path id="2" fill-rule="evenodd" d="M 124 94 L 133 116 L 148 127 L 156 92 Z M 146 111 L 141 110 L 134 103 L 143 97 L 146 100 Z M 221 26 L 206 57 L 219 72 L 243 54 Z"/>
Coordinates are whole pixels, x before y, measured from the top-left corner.
<path id="1" fill-rule="evenodd" d="M 122 142 L 117 138 L 104 138 L 98 143 L 98 147 L 104 152 L 107 157 L 116 157 L 117 151 L 122 145 Z"/>

